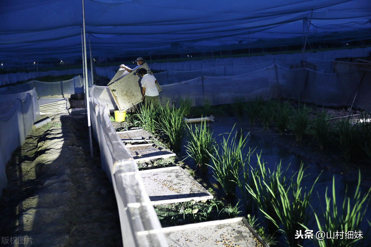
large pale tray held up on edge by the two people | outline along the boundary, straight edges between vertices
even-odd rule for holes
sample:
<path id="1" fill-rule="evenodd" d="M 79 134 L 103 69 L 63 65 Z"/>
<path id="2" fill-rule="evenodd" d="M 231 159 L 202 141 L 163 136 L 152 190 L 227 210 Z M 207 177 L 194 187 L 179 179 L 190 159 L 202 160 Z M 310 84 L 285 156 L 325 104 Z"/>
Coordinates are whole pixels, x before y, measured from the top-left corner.
<path id="1" fill-rule="evenodd" d="M 147 63 L 144 63 L 136 70 L 133 70 L 124 76 L 122 76 L 122 73 L 124 73 L 122 70 L 118 71 L 114 78 L 108 83 L 107 86 L 115 99 L 119 111 L 125 111 L 142 101 L 141 77 L 137 76 L 135 73 L 141 68 L 144 68 L 148 73 L 151 73 Z M 162 89 L 158 83 L 156 83 L 156 86 L 157 90 L 160 92 Z"/>

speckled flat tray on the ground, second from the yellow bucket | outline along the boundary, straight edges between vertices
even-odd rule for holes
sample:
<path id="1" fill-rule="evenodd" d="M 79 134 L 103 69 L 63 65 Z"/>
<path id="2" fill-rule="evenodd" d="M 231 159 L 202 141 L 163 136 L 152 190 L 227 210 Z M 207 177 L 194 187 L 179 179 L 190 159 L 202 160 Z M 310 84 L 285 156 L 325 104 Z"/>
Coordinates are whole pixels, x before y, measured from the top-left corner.
<path id="1" fill-rule="evenodd" d="M 153 160 L 175 156 L 173 152 L 154 143 L 125 146 L 135 161 Z"/>

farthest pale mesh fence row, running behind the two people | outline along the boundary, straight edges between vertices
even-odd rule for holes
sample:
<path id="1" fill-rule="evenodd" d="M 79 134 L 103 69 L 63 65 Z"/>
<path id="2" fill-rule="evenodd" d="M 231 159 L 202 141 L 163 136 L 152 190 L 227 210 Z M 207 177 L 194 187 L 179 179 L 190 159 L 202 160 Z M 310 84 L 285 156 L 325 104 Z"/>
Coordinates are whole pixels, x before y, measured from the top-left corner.
<path id="1" fill-rule="evenodd" d="M 164 70 L 156 73 L 155 77 L 160 85 L 179 83 L 200 76 L 237 76 L 265 69 L 273 64 L 285 68 L 307 67 L 320 72 L 333 73 L 333 64 L 337 58 L 368 56 L 371 47 L 365 49 L 349 49 L 335 51 L 321 51 L 302 54 L 277 54 L 254 57 L 239 57 L 226 59 L 204 59 L 202 61 L 185 61 L 179 63 L 152 63 L 151 70 Z M 107 79 L 112 79 L 117 67 L 96 68 L 96 73 Z"/>

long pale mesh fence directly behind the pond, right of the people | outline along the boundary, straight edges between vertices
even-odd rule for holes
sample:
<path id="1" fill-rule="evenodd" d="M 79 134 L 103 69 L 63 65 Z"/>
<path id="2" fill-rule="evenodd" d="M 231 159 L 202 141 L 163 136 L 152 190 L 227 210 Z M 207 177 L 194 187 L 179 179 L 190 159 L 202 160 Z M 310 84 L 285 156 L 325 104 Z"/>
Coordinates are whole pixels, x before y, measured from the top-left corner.
<path id="1" fill-rule="evenodd" d="M 162 86 L 160 97 L 176 101 L 190 97 L 194 106 L 202 106 L 204 99 L 213 105 L 233 103 L 235 98 L 245 101 L 294 98 L 328 107 L 351 106 L 371 110 L 371 71 L 361 75 L 358 70 L 342 74 L 323 73 L 305 68 L 287 69 L 276 64 L 239 76 L 198 77 Z M 357 93 L 358 92 L 358 93 Z"/>

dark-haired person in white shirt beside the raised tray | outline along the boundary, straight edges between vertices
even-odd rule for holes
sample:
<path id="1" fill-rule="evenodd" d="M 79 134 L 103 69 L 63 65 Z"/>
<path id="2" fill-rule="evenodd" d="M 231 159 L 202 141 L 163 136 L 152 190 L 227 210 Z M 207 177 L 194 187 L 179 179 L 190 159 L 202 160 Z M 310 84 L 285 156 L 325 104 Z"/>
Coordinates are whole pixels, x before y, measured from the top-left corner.
<path id="1" fill-rule="evenodd" d="M 142 100 L 144 100 L 145 106 L 157 106 L 160 101 L 158 98 L 158 90 L 156 87 L 156 78 L 150 74 L 147 74 L 147 70 L 144 68 L 137 70 L 137 75 L 142 77 Z"/>

